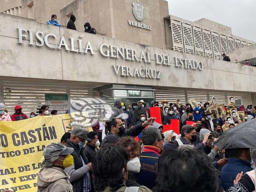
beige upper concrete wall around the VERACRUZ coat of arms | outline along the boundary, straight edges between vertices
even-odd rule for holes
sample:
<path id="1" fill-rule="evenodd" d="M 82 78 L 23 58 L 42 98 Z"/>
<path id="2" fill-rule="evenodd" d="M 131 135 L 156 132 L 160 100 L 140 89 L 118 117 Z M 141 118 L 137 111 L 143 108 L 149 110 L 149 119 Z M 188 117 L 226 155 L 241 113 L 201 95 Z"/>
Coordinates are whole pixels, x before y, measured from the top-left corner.
<path id="1" fill-rule="evenodd" d="M 90 22 L 98 33 L 106 34 L 107 37 L 166 48 L 163 18 L 169 14 L 168 2 L 140 1 L 145 10 L 145 19 L 141 23 L 152 26 L 152 30 L 129 26 L 128 20 L 138 22 L 133 15 L 133 2 L 134 0 L 87 0 L 84 5 L 83 0 L 76 0 L 61 10 L 61 17 L 62 21 L 67 21 L 66 15 L 72 12 L 77 18 L 75 24 L 79 31 L 84 31 L 84 23 Z"/>

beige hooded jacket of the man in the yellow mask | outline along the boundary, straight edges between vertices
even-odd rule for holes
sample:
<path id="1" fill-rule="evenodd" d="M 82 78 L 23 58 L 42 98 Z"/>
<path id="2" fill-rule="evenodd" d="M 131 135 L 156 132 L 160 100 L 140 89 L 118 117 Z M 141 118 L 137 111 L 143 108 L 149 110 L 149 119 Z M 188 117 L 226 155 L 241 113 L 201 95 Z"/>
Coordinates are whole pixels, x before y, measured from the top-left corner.
<path id="1" fill-rule="evenodd" d="M 38 173 L 37 192 L 73 192 L 69 177 L 61 168 L 42 168 Z"/>

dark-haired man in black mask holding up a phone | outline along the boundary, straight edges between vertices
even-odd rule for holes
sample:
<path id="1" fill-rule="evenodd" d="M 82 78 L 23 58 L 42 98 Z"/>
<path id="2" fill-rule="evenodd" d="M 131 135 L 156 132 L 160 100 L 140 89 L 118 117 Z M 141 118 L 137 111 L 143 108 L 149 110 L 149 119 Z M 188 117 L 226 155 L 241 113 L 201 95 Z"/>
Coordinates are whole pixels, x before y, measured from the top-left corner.
<path id="1" fill-rule="evenodd" d="M 203 141 L 196 144 L 195 141 L 197 140 L 197 135 L 195 128 L 191 125 L 184 125 L 181 130 L 180 139 L 176 139 L 175 141 L 171 141 L 170 143 L 172 143 L 176 148 L 182 145 L 190 145 L 194 149 L 204 150 L 209 135 L 210 134 L 206 134 L 203 138 Z"/>

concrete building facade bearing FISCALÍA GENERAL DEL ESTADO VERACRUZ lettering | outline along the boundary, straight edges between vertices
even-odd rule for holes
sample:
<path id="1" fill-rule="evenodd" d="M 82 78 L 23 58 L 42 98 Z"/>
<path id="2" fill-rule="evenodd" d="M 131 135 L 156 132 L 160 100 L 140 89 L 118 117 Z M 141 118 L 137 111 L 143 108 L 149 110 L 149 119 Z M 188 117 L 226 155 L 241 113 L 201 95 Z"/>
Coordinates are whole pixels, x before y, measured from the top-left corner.
<path id="1" fill-rule="evenodd" d="M 76 1 L 60 9 L 60 15 L 64 10 L 65 14 L 68 12 L 74 14 L 74 10 L 67 11 L 69 6 L 74 7 L 72 4 L 74 2 Z M 81 2 L 86 6 L 92 1 L 88 0 L 85 4 L 84 1 Z M 167 99 L 169 102 L 176 102 L 176 99 L 180 99 L 180 102 L 187 102 L 194 98 L 197 101 L 207 102 L 213 96 L 216 102 L 228 104 L 227 98 L 235 96 L 236 105 L 256 105 L 255 67 L 216 59 L 218 57 L 214 57 L 213 49 L 212 57 L 199 54 L 199 51 L 206 54 L 204 45 L 206 40 L 204 35 L 199 38 L 200 34 L 196 35 L 193 32 L 195 30 L 193 26 L 197 26 L 197 30 L 202 34 L 203 29 L 208 26 L 210 28 L 208 37 L 211 38 L 211 42 L 211 33 L 214 30 L 216 32 L 219 29 L 220 40 L 220 34 L 232 33 L 230 28 L 222 27 L 220 24 L 212 24 L 211 27 L 211 22 L 203 28 L 203 20 L 197 21 L 197 24 L 181 20 L 182 33 L 187 36 L 183 35 L 180 41 L 191 41 L 191 44 L 183 43 L 183 50 L 179 45 L 180 50 L 177 51 L 174 46 L 178 46 L 178 41 L 174 41 L 173 38 L 180 36 L 172 27 L 172 23 L 178 22 L 178 19 L 174 16 L 164 19 L 164 15 L 158 13 L 158 16 L 153 14 L 152 17 L 159 19 L 159 25 L 150 21 L 151 10 L 153 13 L 159 12 L 162 10 L 159 6 L 167 6 L 166 1 L 159 0 L 156 5 L 158 8 L 155 9 L 154 6 L 147 4 L 153 5 L 154 1 L 126 0 L 125 2 L 126 10 L 130 13 L 126 19 L 118 23 L 121 23 L 121 27 L 126 25 L 128 29 L 135 30 L 131 31 L 131 34 L 136 33 L 136 30 L 138 34 L 140 32 L 140 39 L 128 40 L 125 36 L 129 35 L 122 37 L 121 32 L 115 30 L 116 26 L 112 26 L 112 22 L 117 22 L 115 20 L 118 19 L 113 15 L 109 17 L 111 33 L 105 33 L 104 30 L 108 30 L 102 27 L 100 35 L 93 35 L 84 33 L 80 29 L 81 26 L 80 30 L 76 31 L 49 26 L 35 19 L 1 13 L 0 101 L 5 102 L 10 111 L 15 105 L 20 104 L 26 113 L 35 112 L 38 106 L 44 104 L 45 93 L 67 94 L 69 99 L 98 96 L 112 104 L 116 99 L 122 99 L 127 105 L 132 101 L 144 99 L 148 106 L 154 100 Z M 135 2 L 142 2 L 144 9 L 141 4 Z M 93 8 L 95 5 L 91 6 L 91 10 L 96 10 Z M 105 4 L 99 6 L 105 7 Z M 79 20 L 79 14 L 76 16 Z M 144 20 L 145 18 L 148 20 Z M 93 27 L 95 26 L 93 20 L 89 22 Z M 200 22 L 201 24 L 198 24 Z M 204 23 L 207 23 L 207 20 L 204 20 Z M 187 24 L 191 24 L 191 28 L 185 29 Z M 159 33 L 154 32 L 153 29 L 157 29 Z M 221 29 L 223 33 L 219 32 Z M 187 31 L 192 31 L 192 37 L 188 36 Z M 159 42 L 162 43 L 148 41 L 140 44 L 144 42 L 144 35 L 147 34 L 152 38 L 159 36 Z M 200 50 L 195 46 L 199 46 L 199 40 L 202 40 Z M 228 42 L 227 36 L 226 40 Z M 227 49 L 229 48 L 227 44 Z M 187 51 L 190 49 L 194 52 Z M 222 51 L 221 44 L 220 50 Z M 248 78 L 249 81 L 245 80 Z"/>

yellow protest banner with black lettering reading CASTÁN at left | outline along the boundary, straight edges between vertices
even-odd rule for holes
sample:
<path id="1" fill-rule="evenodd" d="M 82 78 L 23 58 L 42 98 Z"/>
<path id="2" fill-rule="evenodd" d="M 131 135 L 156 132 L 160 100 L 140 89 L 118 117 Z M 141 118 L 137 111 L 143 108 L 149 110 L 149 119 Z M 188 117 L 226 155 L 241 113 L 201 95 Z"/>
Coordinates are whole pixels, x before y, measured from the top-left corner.
<path id="1" fill-rule="evenodd" d="M 43 149 L 71 132 L 70 121 L 69 114 L 0 121 L 0 192 L 37 191 Z"/>

